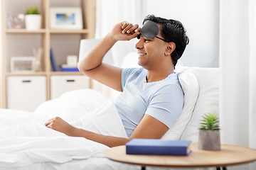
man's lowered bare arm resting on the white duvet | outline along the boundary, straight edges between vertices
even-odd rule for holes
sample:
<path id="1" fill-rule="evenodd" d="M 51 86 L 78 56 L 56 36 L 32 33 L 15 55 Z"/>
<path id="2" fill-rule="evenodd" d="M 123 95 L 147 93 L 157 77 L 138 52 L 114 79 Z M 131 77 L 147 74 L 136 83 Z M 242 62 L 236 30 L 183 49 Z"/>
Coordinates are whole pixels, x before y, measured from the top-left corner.
<path id="1" fill-rule="evenodd" d="M 133 138 L 160 139 L 169 130 L 164 123 L 161 123 L 150 115 L 144 115 L 144 118 L 142 118 L 142 121 L 137 125 L 137 128 L 135 128 L 129 138 L 99 135 L 94 132 L 75 128 L 58 117 L 48 120 L 46 127 L 63 132 L 68 136 L 85 137 L 87 140 L 99 142 L 108 147 L 125 145 Z"/>

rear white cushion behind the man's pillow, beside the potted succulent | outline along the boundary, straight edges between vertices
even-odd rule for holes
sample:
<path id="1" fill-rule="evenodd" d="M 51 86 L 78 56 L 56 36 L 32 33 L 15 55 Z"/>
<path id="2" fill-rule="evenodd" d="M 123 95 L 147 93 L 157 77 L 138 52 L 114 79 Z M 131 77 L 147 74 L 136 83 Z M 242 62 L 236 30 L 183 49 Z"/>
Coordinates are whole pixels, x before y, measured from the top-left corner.
<path id="1" fill-rule="evenodd" d="M 206 113 L 219 113 L 219 68 L 176 67 L 176 72 L 191 72 L 196 76 L 200 91 L 193 116 L 181 140 L 198 142 L 200 122 Z"/>

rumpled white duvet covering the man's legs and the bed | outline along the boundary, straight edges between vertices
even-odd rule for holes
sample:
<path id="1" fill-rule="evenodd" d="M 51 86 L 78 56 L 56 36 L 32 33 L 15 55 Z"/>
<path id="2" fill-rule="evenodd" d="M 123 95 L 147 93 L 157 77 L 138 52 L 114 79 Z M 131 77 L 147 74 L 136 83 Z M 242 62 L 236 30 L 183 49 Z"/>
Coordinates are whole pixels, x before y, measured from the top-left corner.
<path id="1" fill-rule="evenodd" d="M 91 89 L 70 91 L 42 103 L 34 113 L 0 109 L 0 167 L 103 157 L 109 147 L 46 128 L 46 120 L 55 116 L 91 132 L 127 137 L 110 99 Z"/>

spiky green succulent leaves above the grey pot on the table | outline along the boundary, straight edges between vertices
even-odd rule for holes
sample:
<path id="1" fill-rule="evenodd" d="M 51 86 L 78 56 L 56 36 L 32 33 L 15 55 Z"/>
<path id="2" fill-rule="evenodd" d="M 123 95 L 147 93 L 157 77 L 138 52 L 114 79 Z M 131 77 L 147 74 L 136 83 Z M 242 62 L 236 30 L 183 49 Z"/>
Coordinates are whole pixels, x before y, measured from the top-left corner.
<path id="1" fill-rule="evenodd" d="M 220 130 L 219 120 L 215 113 L 204 115 L 200 124 L 200 130 Z"/>

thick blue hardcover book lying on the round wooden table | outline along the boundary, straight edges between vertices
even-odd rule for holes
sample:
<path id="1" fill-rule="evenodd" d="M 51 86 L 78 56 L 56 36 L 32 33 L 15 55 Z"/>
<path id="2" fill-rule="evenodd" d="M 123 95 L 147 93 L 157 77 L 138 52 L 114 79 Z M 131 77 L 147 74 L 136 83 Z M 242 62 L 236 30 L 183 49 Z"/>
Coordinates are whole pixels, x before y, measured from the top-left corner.
<path id="1" fill-rule="evenodd" d="M 191 153 L 188 140 L 132 139 L 126 143 L 127 154 L 188 155 Z"/>

